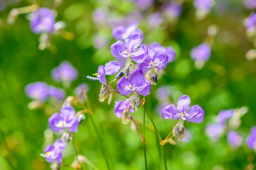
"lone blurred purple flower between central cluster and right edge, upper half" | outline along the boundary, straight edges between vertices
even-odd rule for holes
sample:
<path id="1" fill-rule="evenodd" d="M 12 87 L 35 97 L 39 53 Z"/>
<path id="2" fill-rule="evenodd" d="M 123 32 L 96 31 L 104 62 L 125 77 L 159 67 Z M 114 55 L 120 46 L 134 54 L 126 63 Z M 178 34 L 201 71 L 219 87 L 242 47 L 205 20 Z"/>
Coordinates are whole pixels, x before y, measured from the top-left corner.
<path id="1" fill-rule="evenodd" d="M 211 56 L 211 47 L 207 43 L 192 48 L 190 55 L 195 61 L 207 61 Z"/>

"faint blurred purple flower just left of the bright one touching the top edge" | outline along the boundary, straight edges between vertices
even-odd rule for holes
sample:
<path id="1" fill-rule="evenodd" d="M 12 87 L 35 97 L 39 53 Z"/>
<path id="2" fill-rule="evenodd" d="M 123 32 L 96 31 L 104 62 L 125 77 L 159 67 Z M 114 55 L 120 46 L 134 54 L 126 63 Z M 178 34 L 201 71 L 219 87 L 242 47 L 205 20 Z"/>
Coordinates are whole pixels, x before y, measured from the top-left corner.
<path id="1" fill-rule="evenodd" d="M 177 19 L 182 12 L 182 5 L 177 2 L 167 2 L 163 4 L 162 10 L 168 18 Z"/>

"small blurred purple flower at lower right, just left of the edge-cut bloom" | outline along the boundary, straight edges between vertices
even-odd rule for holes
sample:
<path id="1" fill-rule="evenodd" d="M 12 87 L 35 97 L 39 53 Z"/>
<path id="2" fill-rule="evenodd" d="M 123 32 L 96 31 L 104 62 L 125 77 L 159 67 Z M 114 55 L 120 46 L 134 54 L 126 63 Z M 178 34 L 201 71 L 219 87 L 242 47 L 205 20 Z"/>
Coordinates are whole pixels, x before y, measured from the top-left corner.
<path id="1" fill-rule="evenodd" d="M 225 131 L 225 124 L 208 123 L 206 125 L 205 134 L 210 137 L 212 142 L 218 142 L 221 135 Z"/>

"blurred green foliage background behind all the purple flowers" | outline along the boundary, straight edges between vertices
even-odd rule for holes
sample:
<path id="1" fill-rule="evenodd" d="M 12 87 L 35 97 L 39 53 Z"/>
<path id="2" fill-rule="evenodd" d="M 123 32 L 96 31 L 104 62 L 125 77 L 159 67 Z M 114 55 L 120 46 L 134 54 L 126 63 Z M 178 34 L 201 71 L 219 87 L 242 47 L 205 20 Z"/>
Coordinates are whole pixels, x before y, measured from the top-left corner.
<path id="1" fill-rule="evenodd" d="M 64 88 L 51 78 L 51 70 L 61 61 L 70 61 L 79 71 L 72 86 L 65 89 L 67 96 L 74 95 L 80 83 L 87 83 L 88 97 L 92 105 L 92 118 L 103 139 L 102 145 L 113 170 L 144 169 L 144 148 L 136 131 L 130 124 L 121 123 L 113 112 L 114 101 L 120 98 L 115 94 L 110 105 L 98 100 L 100 83 L 89 81 L 83 75 L 92 75 L 99 65 L 114 60 L 110 54 L 112 27 L 106 23 L 95 23 L 93 12 L 99 7 L 109 10 L 117 18 L 124 17 L 136 9 L 136 5 L 125 0 L 70 0 L 57 4 L 57 0 L 1 0 L 6 8 L 0 11 L 0 169 L 1 170 L 48 170 L 47 163 L 40 153 L 45 149 L 45 129 L 49 128 L 48 118 L 55 110 L 29 110 L 31 102 L 25 95 L 25 86 L 36 81 Z M 66 39 L 63 33 L 51 35 L 51 48 L 38 49 L 38 37 L 29 27 L 27 14 L 20 14 L 13 24 L 7 23 L 11 9 L 25 7 L 37 2 L 40 7 L 48 7 L 57 13 L 56 21 L 67 24 L 65 31 L 74 39 Z M 191 141 L 177 141 L 176 146 L 165 147 L 167 165 L 172 170 L 241 170 L 253 163 L 255 153 L 250 151 L 245 139 L 249 129 L 256 125 L 256 61 L 247 60 L 245 54 L 254 48 L 252 40 L 246 36 L 245 18 L 252 10 L 245 9 L 240 0 L 216 0 L 210 13 L 202 20 L 195 18 L 195 8 L 191 0 L 182 3 L 182 14 L 176 23 L 164 20 L 160 26 L 149 28 L 146 17 L 161 11 L 164 1 L 154 1 L 149 9 L 142 12 L 139 28 L 144 32 L 144 44 L 158 41 L 163 46 L 172 46 L 176 59 L 169 63 L 156 86 L 151 87 L 146 97 L 146 107 L 155 124 L 165 138 L 177 123 L 164 120 L 155 107 L 158 102 L 155 92 L 162 85 L 171 85 L 173 92 L 170 101 L 177 103 L 181 95 L 191 98 L 191 105 L 200 105 L 205 111 L 201 124 L 185 122 L 191 132 Z M 1 4 L 0 4 L 1 5 Z M 3 6 L 2 6 L 3 7 Z M 115 18 L 113 18 L 114 20 Z M 136 19 L 136 18 L 135 18 Z M 214 37 L 207 34 L 209 26 L 215 26 Z M 93 37 L 104 35 L 106 46 L 95 48 Z M 194 67 L 190 50 L 204 41 L 212 43 L 211 58 L 201 70 Z M 108 77 L 108 82 L 114 76 Z M 51 103 L 50 103 L 51 104 Z M 171 103 L 170 103 L 171 104 Z M 239 131 L 244 133 L 244 143 L 239 148 L 231 148 L 226 136 L 216 143 L 205 135 L 207 122 L 222 109 L 247 106 L 249 111 L 241 118 Z M 142 109 L 132 113 L 142 124 Z M 146 148 L 149 170 L 162 170 L 164 163 L 159 153 L 159 144 L 152 124 L 146 118 Z M 49 130 L 48 130 L 49 131 Z M 55 139 L 58 137 L 55 135 Z M 87 157 L 100 170 L 107 169 L 101 153 L 99 140 L 90 118 L 86 118 L 74 134 L 79 155 Z M 63 163 L 74 160 L 72 145 L 68 145 Z M 248 167 L 247 167 L 248 168 Z M 72 169 L 65 168 L 63 169 Z M 90 167 L 84 165 L 84 169 Z M 248 169 L 249 170 L 249 169 Z"/>

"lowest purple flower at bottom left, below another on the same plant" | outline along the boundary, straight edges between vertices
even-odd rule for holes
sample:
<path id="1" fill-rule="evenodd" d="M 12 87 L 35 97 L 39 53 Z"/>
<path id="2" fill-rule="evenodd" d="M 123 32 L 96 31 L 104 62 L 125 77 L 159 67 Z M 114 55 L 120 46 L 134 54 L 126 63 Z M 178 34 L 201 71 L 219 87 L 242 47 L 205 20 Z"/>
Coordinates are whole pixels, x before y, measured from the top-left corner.
<path id="1" fill-rule="evenodd" d="M 42 157 L 45 157 L 46 161 L 52 163 L 56 160 L 58 163 L 62 162 L 62 150 L 65 149 L 66 144 L 61 141 L 61 139 L 57 139 L 53 145 L 48 145 L 44 152 L 45 154 L 40 154 Z"/>

